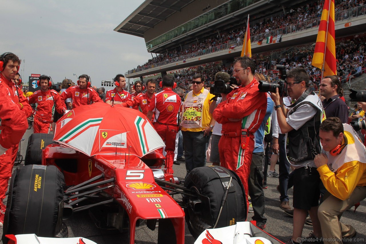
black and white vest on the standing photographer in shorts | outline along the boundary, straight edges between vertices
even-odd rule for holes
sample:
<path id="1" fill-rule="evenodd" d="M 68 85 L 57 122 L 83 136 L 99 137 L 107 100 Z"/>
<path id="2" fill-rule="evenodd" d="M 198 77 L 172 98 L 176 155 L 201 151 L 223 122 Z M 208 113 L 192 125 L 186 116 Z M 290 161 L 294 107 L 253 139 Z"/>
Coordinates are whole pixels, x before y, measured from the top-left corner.
<path id="1" fill-rule="evenodd" d="M 321 153 L 319 126 L 325 119 L 325 112 L 319 97 L 307 88 L 303 95 L 290 107 L 288 115 L 294 113 L 303 104 L 317 109 L 317 113 L 298 130 L 291 130 L 285 135 L 285 151 L 287 159 L 294 166 L 302 166 L 311 162 L 315 155 Z"/>

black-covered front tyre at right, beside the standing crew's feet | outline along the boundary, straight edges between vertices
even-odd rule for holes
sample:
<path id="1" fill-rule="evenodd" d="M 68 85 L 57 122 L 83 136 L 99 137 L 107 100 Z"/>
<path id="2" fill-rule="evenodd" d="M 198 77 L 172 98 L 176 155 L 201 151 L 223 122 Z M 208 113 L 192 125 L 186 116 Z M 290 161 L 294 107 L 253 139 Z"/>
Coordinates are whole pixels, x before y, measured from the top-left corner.
<path id="1" fill-rule="evenodd" d="M 219 216 L 221 201 L 229 184 L 227 200 Z M 184 196 L 186 222 L 192 236 L 197 237 L 208 228 L 221 228 L 245 221 L 246 200 L 243 185 L 233 171 L 220 166 L 195 168 L 186 177 L 184 186 L 197 196 Z"/>

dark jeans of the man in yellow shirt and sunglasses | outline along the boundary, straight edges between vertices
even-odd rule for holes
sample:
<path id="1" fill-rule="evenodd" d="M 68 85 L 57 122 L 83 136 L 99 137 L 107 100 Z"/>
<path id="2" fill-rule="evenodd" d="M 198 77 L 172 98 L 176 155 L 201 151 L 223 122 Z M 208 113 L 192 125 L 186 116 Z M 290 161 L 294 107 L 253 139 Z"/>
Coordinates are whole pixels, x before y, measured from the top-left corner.
<path id="1" fill-rule="evenodd" d="M 182 131 L 187 174 L 194 168 L 206 165 L 206 144 L 210 140 L 211 134 L 203 136 L 202 131 Z"/>

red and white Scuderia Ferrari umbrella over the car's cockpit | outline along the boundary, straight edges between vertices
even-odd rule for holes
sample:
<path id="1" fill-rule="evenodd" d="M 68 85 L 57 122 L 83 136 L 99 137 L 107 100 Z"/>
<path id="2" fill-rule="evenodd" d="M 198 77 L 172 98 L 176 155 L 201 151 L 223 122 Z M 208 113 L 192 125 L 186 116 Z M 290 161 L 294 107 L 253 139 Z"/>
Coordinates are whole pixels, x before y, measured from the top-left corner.
<path id="1" fill-rule="evenodd" d="M 53 140 L 86 155 L 131 154 L 142 157 L 165 144 L 141 112 L 106 103 L 74 108 L 56 123 Z"/>

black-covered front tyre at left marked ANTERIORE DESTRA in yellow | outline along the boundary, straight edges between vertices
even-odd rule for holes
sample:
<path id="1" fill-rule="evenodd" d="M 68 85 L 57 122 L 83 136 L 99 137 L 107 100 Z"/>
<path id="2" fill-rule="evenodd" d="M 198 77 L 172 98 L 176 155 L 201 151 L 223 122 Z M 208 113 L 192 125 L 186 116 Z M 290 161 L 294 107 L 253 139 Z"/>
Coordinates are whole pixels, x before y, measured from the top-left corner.
<path id="1" fill-rule="evenodd" d="M 16 169 L 9 186 L 5 234 L 67 237 L 62 223 L 64 176 L 55 166 L 28 165 Z"/>

